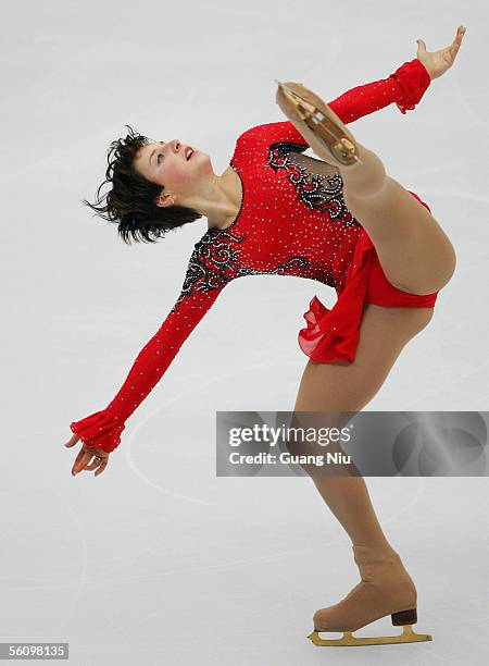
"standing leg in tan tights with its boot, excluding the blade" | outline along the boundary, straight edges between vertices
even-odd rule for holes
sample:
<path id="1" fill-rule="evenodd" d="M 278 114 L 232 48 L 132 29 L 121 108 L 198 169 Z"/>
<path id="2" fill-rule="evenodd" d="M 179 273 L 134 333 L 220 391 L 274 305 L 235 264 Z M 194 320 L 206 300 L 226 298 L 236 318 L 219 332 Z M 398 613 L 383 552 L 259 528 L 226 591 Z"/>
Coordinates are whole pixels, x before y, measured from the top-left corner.
<path id="1" fill-rule="evenodd" d="M 361 410 L 380 388 L 405 344 L 431 316 L 432 308 L 404 310 L 367 304 L 354 361 L 309 361 L 294 411 L 299 417 L 300 412 L 321 411 L 323 419 L 324 412 Z M 331 416 L 336 418 L 341 417 Z M 341 422 L 333 424 L 341 427 Z M 363 478 L 313 476 L 313 481 L 350 536 L 361 572 L 361 582 L 344 599 L 314 614 L 315 630 L 354 631 L 388 614 L 396 614 L 396 621 L 413 621 L 416 588 L 383 532 Z"/>

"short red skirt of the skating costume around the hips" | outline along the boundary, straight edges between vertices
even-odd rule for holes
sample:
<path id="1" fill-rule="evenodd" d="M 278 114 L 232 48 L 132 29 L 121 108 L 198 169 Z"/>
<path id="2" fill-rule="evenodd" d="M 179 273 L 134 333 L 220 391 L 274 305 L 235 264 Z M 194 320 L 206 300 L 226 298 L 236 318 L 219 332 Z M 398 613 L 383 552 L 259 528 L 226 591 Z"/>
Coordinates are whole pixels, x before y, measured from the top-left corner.
<path id="1" fill-rule="evenodd" d="M 408 190 L 430 212 L 425 201 Z M 353 362 L 360 337 L 364 304 L 390 308 L 432 308 L 438 292 L 419 296 L 394 287 L 386 278 L 377 251 L 365 230 L 355 246 L 338 300 L 326 308 L 317 296 L 309 304 L 303 317 L 306 328 L 299 331 L 302 351 L 318 363 Z"/>

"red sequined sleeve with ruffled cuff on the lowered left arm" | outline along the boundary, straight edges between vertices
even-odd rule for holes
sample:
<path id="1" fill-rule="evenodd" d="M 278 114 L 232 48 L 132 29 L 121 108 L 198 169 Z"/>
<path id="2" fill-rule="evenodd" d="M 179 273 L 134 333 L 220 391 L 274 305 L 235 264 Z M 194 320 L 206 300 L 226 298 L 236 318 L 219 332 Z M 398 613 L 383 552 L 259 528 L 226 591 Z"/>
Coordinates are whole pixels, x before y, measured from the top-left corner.
<path id="1" fill-rule="evenodd" d="M 196 254 L 192 255 L 178 300 L 138 354 L 114 399 L 105 409 L 70 423 L 72 432 L 88 446 L 112 452 L 121 442 L 125 421 L 158 384 L 226 283 L 220 275 L 209 274 L 202 262 L 196 261 Z"/>

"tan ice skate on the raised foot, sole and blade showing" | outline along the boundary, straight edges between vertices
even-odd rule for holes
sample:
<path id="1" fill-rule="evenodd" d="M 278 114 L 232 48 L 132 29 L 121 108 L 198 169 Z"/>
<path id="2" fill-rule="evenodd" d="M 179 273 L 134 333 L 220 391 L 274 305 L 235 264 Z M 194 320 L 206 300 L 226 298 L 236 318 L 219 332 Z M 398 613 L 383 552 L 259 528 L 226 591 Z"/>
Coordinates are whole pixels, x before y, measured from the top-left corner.
<path id="1" fill-rule="evenodd" d="M 284 112 L 286 112 L 283 108 L 284 102 L 289 109 L 292 106 L 300 121 L 305 123 L 317 139 L 328 148 L 333 157 L 331 161 L 336 166 L 363 163 L 359 157 L 359 146 L 353 135 L 321 97 L 314 95 L 302 84 L 275 81 L 279 88 L 277 91 L 278 106 Z"/>

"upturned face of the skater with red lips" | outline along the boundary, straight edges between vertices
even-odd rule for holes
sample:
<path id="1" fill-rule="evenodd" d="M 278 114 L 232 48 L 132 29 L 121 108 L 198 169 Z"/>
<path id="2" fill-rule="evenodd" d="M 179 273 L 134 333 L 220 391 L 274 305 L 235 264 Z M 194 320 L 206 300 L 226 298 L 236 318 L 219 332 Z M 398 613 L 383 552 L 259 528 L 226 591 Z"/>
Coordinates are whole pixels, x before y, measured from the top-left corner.
<path id="1" fill-rule="evenodd" d="M 199 180 L 210 169 L 210 158 L 195 146 L 190 159 L 186 152 L 190 146 L 178 139 L 156 141 L 139 149 L 134 165 L 146 178 L 164 187 L 158 206 L 183 205 L 183 200 L 196 192 Z"/>

